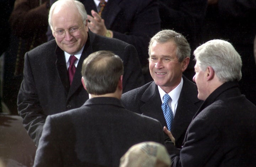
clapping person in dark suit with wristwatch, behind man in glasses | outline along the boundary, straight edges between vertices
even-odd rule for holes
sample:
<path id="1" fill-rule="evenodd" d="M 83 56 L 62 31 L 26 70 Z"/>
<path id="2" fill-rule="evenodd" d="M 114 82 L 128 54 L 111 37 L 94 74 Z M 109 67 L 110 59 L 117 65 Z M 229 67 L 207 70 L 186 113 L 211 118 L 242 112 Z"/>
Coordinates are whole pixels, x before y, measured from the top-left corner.
<path id="1" fill-rule="evenodd" d="M 50 4 L 56 0 L 50 0 Z M 157 0 L 80 0 L 88 14 L 89 29 L 135 46 L 145 82 L 152 81 L 148 69 L 148 43 L 160 31 Z M 103 3 L 104 7 L 101 7 Z M 48 28 L 48 40 L 53 39 Z"/>

